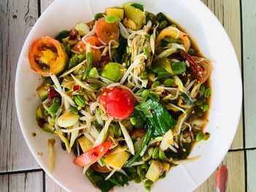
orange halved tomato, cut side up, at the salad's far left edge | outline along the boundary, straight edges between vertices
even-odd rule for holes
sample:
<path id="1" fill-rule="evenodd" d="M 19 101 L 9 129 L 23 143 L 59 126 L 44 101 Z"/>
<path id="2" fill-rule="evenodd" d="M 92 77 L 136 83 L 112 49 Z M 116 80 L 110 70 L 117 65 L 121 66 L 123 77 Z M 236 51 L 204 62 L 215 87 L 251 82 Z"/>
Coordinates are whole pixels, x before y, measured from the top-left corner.
<path id="1" fill-rule="evenodd" d="M 39 37 L 29 48 L 29 64 L 31 68 L 48 77 L 50 73 L 59 74 L 67 64 L 67 53 L 61 43 L 51 37 Z"/>

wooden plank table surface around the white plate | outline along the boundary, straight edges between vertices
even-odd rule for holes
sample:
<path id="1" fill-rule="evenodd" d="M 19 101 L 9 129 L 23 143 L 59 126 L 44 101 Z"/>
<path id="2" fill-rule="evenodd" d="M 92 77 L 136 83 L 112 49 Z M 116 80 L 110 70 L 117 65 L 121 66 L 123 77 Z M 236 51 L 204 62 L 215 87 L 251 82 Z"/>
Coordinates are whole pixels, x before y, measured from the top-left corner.
<path id="1" fill-rule="evenodd" d="M 0 191 L 64 191 L 29 152 L 20 132 L 14 101 L 15 71 L 23 42 L 53 0 L 0 1 Z M 187 0 L 189 1 L 189 0 Z M 223 24 L 238 55 L 244 82 L 241 123 L 222 164 L 229 170 L 227 191 L 256 191 L 256 1 L 203 0 Z M 236 85 L 232 85 L 236 88 Z M 195 191 L 214 191 L 214 174 Z"/>

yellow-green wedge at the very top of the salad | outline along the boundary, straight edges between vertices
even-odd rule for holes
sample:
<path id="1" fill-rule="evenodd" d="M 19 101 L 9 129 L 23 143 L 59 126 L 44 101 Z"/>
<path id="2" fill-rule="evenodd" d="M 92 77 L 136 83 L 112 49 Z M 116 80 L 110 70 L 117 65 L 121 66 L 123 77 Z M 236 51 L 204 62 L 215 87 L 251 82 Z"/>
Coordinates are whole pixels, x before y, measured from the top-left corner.
<path id="1" fill-rule="evenodd" d="M 124 15 L 136 24 L 136 30 L 139 30 L 146 24 L 145 12 L 141 10 L 141 6 L 136 7 L 135 3 L 127 3 L 123 5 Z"/>

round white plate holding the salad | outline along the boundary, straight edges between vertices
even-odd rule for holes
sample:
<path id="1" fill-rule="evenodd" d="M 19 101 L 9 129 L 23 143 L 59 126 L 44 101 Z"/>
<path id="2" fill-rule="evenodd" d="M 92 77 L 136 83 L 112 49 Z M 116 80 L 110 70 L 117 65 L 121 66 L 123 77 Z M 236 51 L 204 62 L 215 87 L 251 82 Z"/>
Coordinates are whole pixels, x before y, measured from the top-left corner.
<path id="1" fill-rule="evenodd" d="M 37 37 L 49 35 L 55 37 L 59 31 L 70 29 L 75 23 L 87 22 L 105 7 L 121 6 L 126 0 L 56 0 L 37 20 L 31 29 L 18 61 L 15 82 L 15 101 L 18 120 L 31 153 L 42 169 L 67 191 L 97 191 L 89 180 L 82 175 L 82 169 L 72 164 L 72 155 L 61 149 L 59 139 L 56 142 L 56 167 L 52 173 L 48 170 L 47 140 L 52 138 L 39 129 L 34 112 L 39 104 L 36 88 L 40 84 L 39 76 L 29 67 L 29 45 Z M 191 157 L 202 155 L 192 163 L 172 169 L 164 180 L 154 184 L 152 191 L 192 191 L 205 181 L 220 164 L 229 149 L 238 127 L 241 112 L 242 87 L 241 72 L 236 53 L 221 24 L 211 11 L 199 0 L 140 0 L 149 12 L 164 12 L 176 23 L 186 29 L 195 39 L 198 47 L 211 58 L 214 71 L 212 80 L 212 102 L 209 123 L 206 128 L 211 133 L 207 142 L 200 142 L 192 150 Z M 235 88 L 236 87 L 236 88 Z M 235 89 L 234 89 L 235 88 Z M 31 133 L 35 132 L 36 137 Z M 37 153 L 42 152 L 40 156 Z M 129 187 L 116 188 L 115 191 L 141 191 L 143 185 L 130 183 Z"/>

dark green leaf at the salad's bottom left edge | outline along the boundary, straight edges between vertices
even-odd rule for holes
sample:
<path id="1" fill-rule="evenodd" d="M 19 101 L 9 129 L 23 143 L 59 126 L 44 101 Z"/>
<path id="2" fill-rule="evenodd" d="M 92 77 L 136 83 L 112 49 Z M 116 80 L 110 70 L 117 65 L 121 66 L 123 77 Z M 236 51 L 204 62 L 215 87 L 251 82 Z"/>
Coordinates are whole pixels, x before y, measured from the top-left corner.
<path id="1" fill-rule="evenodd" d="M 99 188 L 102 192 L 108 192 L 111 188 L 113 188 L 113 186 L 115 186 L 115 183 L 111 182 L 110 180 L 105 180 L 105 177 L 102 177 L 98 173 L 94 172 L 94 170 L 91 168 L 87 169 L 86 177 L 89 178 L 94 187 Z"/>

